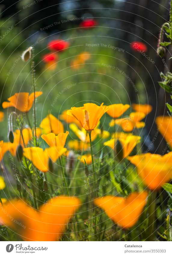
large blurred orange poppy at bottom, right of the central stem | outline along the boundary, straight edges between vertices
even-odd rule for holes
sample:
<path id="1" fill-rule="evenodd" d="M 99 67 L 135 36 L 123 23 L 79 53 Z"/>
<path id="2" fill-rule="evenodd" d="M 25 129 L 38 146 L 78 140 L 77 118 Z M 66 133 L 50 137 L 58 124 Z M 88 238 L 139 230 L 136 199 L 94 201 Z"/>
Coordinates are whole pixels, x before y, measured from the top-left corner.
<path id="1" fill-rule="evenodd" d="M 134 226 L 146 205 L 148 194 L 133 192 L 128 197 L 105 196 L 94 200 L 107 216 L 123 228 Z"/>

